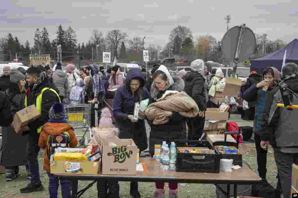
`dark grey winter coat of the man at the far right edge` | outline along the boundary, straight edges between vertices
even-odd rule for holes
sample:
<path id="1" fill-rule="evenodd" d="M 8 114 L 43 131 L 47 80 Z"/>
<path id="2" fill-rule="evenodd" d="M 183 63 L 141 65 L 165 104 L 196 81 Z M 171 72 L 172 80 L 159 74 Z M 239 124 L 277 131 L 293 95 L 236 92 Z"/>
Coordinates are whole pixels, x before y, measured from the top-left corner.
<path id="1" fill-rule="evenodd" d="M 298 94 L 298 78 L 285 80 L 288 88 Z M 287 110 L 277 107 L 283 103 L 279 87 L 274 88 L 266 95 L 266 107 L 262 116 L 262 130 L 258 133 L 263 141 L 269 140 L 270 144 L 283 153 L 298 153 L 297 140 L 297 110 Z M 298 104 L 297 97 L 293 97 L 293 104 Z"/>

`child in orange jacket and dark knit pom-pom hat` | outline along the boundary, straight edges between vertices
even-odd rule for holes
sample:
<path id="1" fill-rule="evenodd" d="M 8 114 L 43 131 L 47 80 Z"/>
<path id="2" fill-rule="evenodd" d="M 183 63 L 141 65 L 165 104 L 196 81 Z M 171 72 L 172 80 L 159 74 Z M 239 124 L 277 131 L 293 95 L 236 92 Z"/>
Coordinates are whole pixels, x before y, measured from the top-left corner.
<path id="1" fill-rule="evenodd" d="M 50 161 L 46 155 L 47 141 L 49 135 L 59 135 L 63 132 L 68 132 L 70 137 L 70 148 L 77 147 L 77 138 L 71 125 L 65 120 L 65 109 L 62 103 L 56 102 L 49 111 L 50 120 L 43 126 L 41 135 L 39 137 L 38 145 L 44 149 L 44 170 L 49 176 L 49 194 L 50 198 L 58 197 L 59 180 L 61 184 L 61 191 L 63 198 L 70 198 L 70 181 L 58 178 L 50 172 Z"/>

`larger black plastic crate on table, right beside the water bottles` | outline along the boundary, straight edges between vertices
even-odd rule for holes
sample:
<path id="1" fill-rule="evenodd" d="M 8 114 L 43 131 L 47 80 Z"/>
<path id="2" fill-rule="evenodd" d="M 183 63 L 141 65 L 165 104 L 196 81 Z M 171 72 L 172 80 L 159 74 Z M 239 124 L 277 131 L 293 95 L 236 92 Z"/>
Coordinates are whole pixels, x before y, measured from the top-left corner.
<path id="1" fill-rule="evenodd" d="M 215 153 L 181 153 L 177 149 L 177 172 L 213 172 L 219 173 L 220 153 L 208 141 L 173 140 L 173 142 L 187 142 L 187 147 L 206 147 Z"/>

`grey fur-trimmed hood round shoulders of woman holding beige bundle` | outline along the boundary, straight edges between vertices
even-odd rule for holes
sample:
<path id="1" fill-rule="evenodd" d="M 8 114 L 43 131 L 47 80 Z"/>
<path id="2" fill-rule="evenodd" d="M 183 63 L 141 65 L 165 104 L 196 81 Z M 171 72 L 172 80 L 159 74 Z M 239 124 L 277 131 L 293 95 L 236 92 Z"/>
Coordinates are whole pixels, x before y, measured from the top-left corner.
<path id="1" fill-rule="evenodd" d="M 152 83 L 151 88 L 150 88 L 150 95 L 151 97 L 156 101 L 157 99 L 159 99 L 160 94 L 162 95 L 165 91 L 169 90 L 169 91 L 183 91 L 184 87 L 185 87 L 185 83 L 184 80 L 177 77 L 177 76 L 173 76 L 173 85 L 170 85 L 169 87 L 165 88 L 163 91 L 159 91 L 154 83 Z"/>

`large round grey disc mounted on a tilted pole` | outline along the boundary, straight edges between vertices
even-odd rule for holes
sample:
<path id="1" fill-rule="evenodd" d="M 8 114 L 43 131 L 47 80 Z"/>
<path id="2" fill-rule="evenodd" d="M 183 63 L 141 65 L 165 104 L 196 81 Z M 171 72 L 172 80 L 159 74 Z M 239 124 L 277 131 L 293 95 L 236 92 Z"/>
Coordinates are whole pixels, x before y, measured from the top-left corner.
<path id="1" fill-rule="evenodd" d="M 256 37 L 245 24 L 229 29 L 221 41 L 223 58 L 227 61 L 241 62 L 249 59 L 254 53 L 255 46 Z"/>

